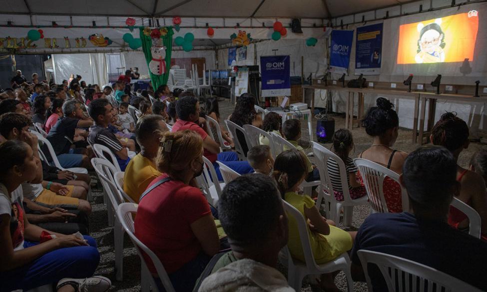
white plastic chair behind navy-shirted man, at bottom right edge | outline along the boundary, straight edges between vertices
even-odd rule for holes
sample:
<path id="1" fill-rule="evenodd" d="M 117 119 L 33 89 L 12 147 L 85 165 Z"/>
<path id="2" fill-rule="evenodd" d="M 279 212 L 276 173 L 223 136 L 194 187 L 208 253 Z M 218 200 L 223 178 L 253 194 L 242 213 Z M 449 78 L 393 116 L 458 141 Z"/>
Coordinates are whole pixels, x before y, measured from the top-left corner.
<path id="1" fill-rule="evenodd" d="M 360 262 L 362 263 L 365 278 L 367 279 L 367 287 L 369 288 L 370 292 L 373 291 L 373 287 L 367 269 L 369 263 L 375 264 L 377 267 L 379 267 L 379 270 L 381 270 L 382 276 L 386 281 L 388 291 L 390 292 L 482 291 L 448 274 L 407 259 L 366 250 L 360 250 L 357 252 L 357 254 L 360 258 Z M 412 287 L 410 287 L 410 285 L 412 285 Z M 399 290 L 396 290 L 396 286 L 399 287 Z M 403 287 L 406 289 L 403 290 Z"/>

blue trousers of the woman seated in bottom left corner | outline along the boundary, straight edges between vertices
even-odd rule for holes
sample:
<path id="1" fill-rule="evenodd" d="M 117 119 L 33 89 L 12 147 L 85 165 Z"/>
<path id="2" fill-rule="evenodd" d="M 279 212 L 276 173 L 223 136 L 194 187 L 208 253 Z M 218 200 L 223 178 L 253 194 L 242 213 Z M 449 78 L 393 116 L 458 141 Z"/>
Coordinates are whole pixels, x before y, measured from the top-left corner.
<path id="1" fill-rule="evenodd" d="M 89 246 L 57 249 L 23 267 L 0 273 L 0 292 L 16 289 L 27 291 L 47 284 L 56 284 L 63 278 L 88 278 L 100 261 L 96 242 L 84 236 Z M 24 248 L 39 243 L 25 241 Z"/>

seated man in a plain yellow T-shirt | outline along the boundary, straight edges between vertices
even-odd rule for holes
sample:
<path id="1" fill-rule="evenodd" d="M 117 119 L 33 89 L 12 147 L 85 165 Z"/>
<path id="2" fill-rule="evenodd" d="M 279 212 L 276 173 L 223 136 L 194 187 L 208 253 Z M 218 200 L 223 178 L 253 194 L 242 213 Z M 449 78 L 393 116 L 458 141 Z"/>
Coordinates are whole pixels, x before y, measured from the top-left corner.
<path id="1" fill-rule="evenodd" d="M 135 136 L 140 145 L 140 153 L 130 160 L 123 177 L 123 191 L 135 203 L 147 186 L 161 173 L 157 170 L 154 159 L 159 150 L 161 134 L 167 131 L 162 116 L 147 115 L 141 117 L 135 126 Z"/>

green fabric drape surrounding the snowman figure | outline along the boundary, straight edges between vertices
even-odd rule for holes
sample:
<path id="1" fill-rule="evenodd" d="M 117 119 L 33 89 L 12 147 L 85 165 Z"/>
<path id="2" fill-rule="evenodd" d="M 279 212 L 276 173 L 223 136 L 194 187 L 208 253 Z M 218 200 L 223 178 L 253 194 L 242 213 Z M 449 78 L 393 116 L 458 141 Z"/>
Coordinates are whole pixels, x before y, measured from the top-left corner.
<path id="1" fill-rule="evenodd" d="M 172 53 L 172 36 L 174 31 L 172 26 L 166 26 L 167 34 L 161 36 L 162 44 L 166 47 L 166 57 L 165 57 L 165 64 L 166 64 L 166 71 L 162 75 L 155 75 L 152 74 L 149 70 L 150 80 L 152 81 L 152 88 L 154 91 L 161 86 L 162 84 L 167 84 L 167 79 L 169 78 L 169 69 L 171 68 L 171 53 Z M 147 67 L 149 66 L 150 61 L 152 60 L 152 38 L 150 35 L 144 34 L 144 27 L 139 28 L 140 40 L 142 42 L 142 51 L 144 52 L 145 61 L 147 62 Z"/>

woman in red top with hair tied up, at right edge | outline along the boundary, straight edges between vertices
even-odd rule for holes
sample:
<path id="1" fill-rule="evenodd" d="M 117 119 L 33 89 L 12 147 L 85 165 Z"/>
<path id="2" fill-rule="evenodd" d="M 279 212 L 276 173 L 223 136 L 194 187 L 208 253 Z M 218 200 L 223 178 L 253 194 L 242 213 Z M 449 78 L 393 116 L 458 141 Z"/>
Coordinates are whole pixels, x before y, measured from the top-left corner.
<path id="1" fill-rule="evenodd" d="M 454 113 L 447 112 L 433 127 L 430 140 L 435 145 L 441 145 L 450 150 L 458 160 L 460 153 L 469 148 L 469 126 Z M 462 185 L 457 199 L 471 206 L 482 219 L 482 238 L 487 240 L 487 194 L 483 177 L 471 170 L 457 166 L 457 181 Z M 450 208 L 448 223 L 458 229 L 468 230 L 467 216 L 457 208 Z"/>

